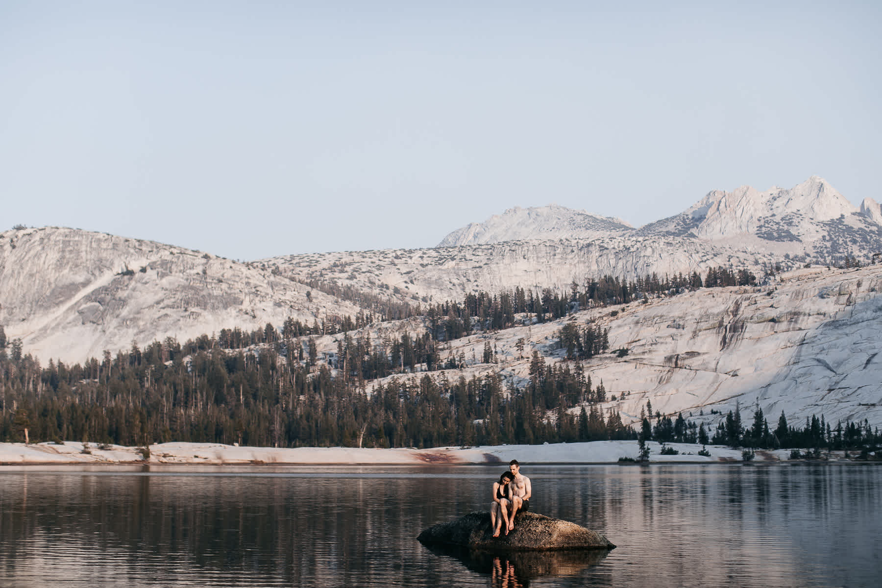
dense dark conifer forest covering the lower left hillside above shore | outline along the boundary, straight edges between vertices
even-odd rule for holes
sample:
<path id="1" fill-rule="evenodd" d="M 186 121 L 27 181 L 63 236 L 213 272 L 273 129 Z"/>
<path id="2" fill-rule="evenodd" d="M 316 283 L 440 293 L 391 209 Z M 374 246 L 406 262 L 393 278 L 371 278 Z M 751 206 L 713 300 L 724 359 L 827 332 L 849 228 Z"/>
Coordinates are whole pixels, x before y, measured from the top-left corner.
<path id="1" fill-rule="evenodd" d="M 522 389 L 496 375 L 363 379 L 279 353 L 205 348 L 200 337 L 41 367 L 0 349 L 0 440 L 145 445 L 433 447 L 633 438 L 580 368 L 534 354 Z M 185 361 L 185 357 L 189 357 Z M 573 415 L 579 402 L 592 408 Z"/>

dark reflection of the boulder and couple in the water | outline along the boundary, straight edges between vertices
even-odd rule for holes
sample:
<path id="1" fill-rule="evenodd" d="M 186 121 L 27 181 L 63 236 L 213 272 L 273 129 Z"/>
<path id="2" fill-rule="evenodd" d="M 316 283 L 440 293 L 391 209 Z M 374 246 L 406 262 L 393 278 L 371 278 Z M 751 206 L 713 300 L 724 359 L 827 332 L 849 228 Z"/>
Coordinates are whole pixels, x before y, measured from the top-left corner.
<path id="1" fill-rule="evenodd" d="M 576 576 L 609 555 L 606 549 L 574 549 L 562 551 L 516 551 L 492 553 L 468 547 L 427 547 L 433 554 L 458 560 L 468 569 L 487 574 L 493 586 L 505 588 L 530 585 L 538 577 Z"/>

